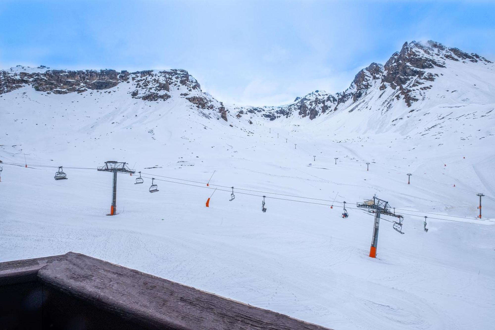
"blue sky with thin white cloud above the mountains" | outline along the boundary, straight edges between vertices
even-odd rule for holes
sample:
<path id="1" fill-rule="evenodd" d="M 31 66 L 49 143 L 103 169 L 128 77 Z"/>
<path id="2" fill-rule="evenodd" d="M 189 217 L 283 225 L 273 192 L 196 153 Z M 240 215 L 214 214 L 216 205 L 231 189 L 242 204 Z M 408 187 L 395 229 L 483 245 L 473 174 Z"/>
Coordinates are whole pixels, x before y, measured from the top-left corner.
<path id="1" fill-rule="evenodd" d="M 236 105 L 343 91 L 429 39 L 495 60 L 495 2 L 0 1 L 0 68 L 183 68 Z"/>

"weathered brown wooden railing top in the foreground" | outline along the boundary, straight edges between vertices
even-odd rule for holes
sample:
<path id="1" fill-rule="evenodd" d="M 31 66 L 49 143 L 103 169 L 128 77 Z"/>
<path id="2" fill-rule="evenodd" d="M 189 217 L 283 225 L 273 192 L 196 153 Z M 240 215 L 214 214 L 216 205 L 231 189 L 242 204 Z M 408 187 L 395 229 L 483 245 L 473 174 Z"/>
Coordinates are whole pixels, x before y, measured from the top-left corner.
<path id="1" fill-rule="evenodd" d="M 148 329 L 327 329 L 83 254 L 0 263 L 0 285 L 33 280 Z"/>

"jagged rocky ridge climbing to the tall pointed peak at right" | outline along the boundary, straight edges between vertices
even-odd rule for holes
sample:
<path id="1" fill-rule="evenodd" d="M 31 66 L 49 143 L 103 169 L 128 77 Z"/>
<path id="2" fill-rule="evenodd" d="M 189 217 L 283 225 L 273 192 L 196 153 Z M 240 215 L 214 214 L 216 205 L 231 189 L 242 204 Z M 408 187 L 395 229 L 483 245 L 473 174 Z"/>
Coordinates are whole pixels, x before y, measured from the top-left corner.
<path id="1" fill-rule="evenodd" d="M 493 63 L 480 55 L 467 54 L 458 48 L 446 48 L 431 40 L 426 43 L 412 41 L 404 43 L 385 65 L 373 62 L 360 70 L 344 92 L 332 95 L 317 90 L 302 98 L 297 97 L 289 105 L 240 107 L 234 110 L 237 117 L 250 113 L 270 120 L 281 117 L 309 117 L 313 120 L 337 110 L 362 110 L 360 105 L 368 102 L 360 101 L 374 91 L 386 95 L 382 101 L 384 109 L 391 109 L 398 101 L 411 107 L 413 103 L 428 98 L 430 84 L 441 76 L 441 73 L 434 72 L 435 69 L 452 69 L 456 62 L 466 64 L 466 67 L 485 67 L 492 72 L 494 69 Z"/>

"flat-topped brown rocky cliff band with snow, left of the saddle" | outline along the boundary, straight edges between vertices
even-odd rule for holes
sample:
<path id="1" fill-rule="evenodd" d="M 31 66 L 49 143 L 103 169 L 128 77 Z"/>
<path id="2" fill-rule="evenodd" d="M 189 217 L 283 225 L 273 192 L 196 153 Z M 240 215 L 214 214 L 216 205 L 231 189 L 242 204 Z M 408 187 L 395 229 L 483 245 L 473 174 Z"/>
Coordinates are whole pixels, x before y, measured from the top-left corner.
<path id="1" fill-rule="evenodd" d="M 160 102 L 172 97 L 183 98 L 192 107 L 202 110 L 204 115 L 227 121 L 227 110 L 223 104 L 203 93 L 198 81 L 182 69 L 118 72 L 113 69 L 53 70 L 44 65 L 37 68 L 18 65 L 0 71 L 0 94 L 23 86 L 32 86 L 36 91 L 47 94 L 79 94 L 88 90 L 111 93 L 110 89 L 120 84 L 133 86 L 129 94 L 134 99 Z"/>

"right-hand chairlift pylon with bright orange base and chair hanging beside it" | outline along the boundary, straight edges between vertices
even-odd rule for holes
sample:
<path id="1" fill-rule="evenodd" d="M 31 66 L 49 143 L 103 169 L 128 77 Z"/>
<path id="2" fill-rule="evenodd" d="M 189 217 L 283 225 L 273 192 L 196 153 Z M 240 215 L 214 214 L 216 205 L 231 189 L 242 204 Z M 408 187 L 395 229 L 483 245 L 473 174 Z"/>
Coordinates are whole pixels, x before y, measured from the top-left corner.
<path id="1" fill-rule="evenodd" d="M 375 223 L 373 225 L 373 238 L 371 240 L 370 254 L 371 258 L 376 258 L 376 249 L 378 246 L 378 228 L 380 226 L 380 216 L 391 216 L 398 218 L 398 221 L 392 221 L 394 223 L 393 227 L 396 231 L 403 234 L 402 232 L 402 220 L 404 217 L 396 214 L 392 211 L 392 207 L 389 205 L 389 202 L 384 201 L 383 199 L 377 198 L 373 196 L 372 199 L 364 201 L 363 203 L 356 203 L 357 207 L 365 210 L 366 212 L 375 214 Z"/>

